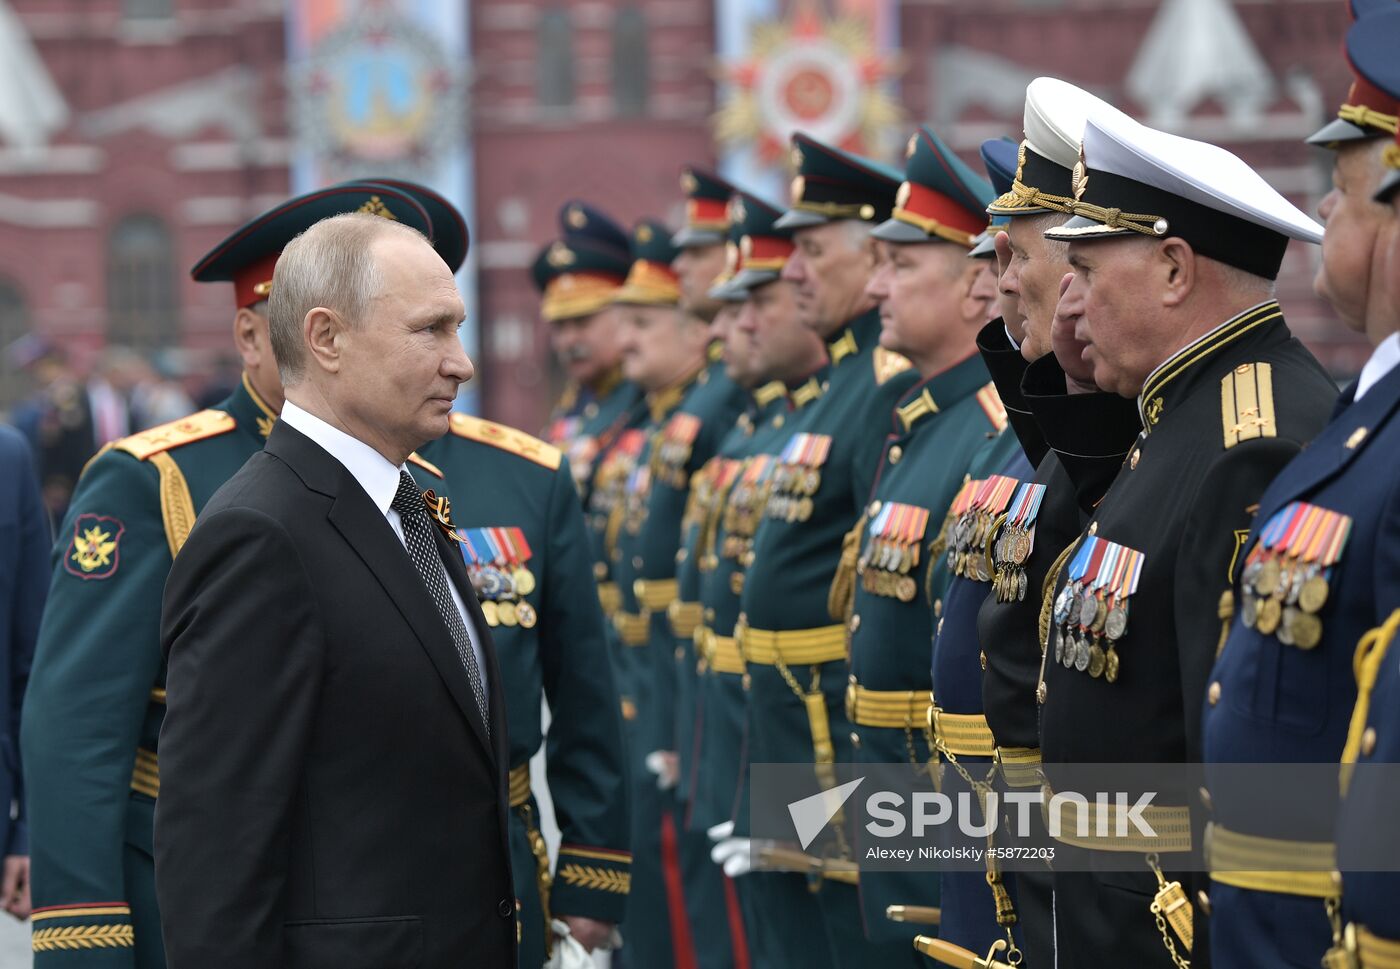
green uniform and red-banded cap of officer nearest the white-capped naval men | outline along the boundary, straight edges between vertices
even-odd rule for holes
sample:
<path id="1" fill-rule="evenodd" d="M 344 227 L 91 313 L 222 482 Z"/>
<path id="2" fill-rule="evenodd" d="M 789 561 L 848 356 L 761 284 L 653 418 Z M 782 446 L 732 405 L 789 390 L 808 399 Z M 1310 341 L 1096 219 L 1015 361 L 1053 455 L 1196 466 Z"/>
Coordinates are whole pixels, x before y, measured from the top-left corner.
<path id="1" fill-rule="evenodd" d="M 895 211 L 872 235 L 892 246 L 970 249 L 973 237 L 986 228 L 983 210 L 991 186 L 927 127 L 910 137 L 907 158 Z M 909 388 L 883 423 L 875 484 L 833 584 L 833 598 L 853 604 L 846 713 L 855 763 L 924 766 L 935 744 L 949 759 L 991 755 L 990 744 L 980 742 L 984 727 L 976 731 L 974 716 L 949 711 L 946 723 L 958 720 L 959 727 L 949 737 L 935 735 L 937 718 L 930 728 L 930 643 L 935 602 L 941 608 L 949 581 L 939 555 L 946 541 L 944 513 L 1005 423 L 976 351 Z M 1000 448 L 997 456 L 1005 451 Z M 937 696 L 934 704 L 937 710 Z M 910 944 L 920 927 L 885 914 L 892 905 L 937 906 L 938 872 L 867 871 L 860 895 L 867 935 L 903 942 L 909 947 L 904 962 L 917 965 Z"/>

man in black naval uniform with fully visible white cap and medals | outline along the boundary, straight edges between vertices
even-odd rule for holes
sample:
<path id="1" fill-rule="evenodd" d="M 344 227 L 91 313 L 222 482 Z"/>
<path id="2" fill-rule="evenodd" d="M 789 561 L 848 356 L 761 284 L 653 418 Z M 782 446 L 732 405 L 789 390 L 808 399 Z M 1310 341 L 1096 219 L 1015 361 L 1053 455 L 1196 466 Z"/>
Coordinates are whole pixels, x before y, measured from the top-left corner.
<path id="1" fill-rule="evenodd" d="M 1201 706 L 1219 700 L 1205 693 L 1215 604 L 1243 567 L 1240 535 L 1336 399 L 1273 297 L 1288 241 L 1319 242 L 1316 223 L 1228 151 L 1112 115 L 1086 123 L 1084 158 L 1075 217 L 1046 235 L 1070 242 L 1061 301 L 1095 384 L 1137 398 L 1144 430 L 1053 578 L 1040 707 L 1051 790 L 1058 765 L 1198 759 Z M 1196 791 L 1158 791 L 1142 812 L 1154 836 L 1124 825 L 1081 837 L 1078 818 L 1065 823 L 1061 959 L 1208 962 L 1208 923 L 1193 917 L 1204 879 L 1182 870 L 1198 847 Z M 1089 832 L 1112 819 L 1086 814 Z"/>

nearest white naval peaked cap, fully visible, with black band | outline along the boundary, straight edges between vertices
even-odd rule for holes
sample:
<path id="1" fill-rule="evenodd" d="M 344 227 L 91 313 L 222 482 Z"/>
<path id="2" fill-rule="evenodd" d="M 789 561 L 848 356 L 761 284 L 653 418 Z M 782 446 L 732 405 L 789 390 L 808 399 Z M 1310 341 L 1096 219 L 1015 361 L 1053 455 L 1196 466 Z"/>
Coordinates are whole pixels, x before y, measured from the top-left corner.
<path id="1" fill-rule="evenodd" d="M 1322 242 L 1322 225 L 1232 153 L 1112 115 L 1085 125 L 1074 216 L 1046 237 L 1175 235 L 1267 279 L 1288 239 Z"/>

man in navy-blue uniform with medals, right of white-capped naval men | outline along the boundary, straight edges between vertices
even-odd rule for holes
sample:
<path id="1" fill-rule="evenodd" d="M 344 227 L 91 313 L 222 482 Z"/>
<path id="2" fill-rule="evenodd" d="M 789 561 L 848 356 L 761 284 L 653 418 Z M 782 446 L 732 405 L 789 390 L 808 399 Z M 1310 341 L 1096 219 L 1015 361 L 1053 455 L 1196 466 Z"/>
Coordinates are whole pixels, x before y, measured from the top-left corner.
<path id="1" fill-rule="evenodd" d="M 1382 88 L 1400 90 L 1397 25 L 1396 13 L 1358 18 L 1347 52 L 1357 71 L 1351 97 L 1364 97 L 1366 111 L 1344 105 L 1355 120 L 1338 119 L 1313 139 L 1336 151 L 1334 188 L 1319 207 L 1327 227 L 1316 288 L 1375 350 L 1331 421 L 1259 501 L 1229 637 L 1207 688 L 1217 965 L 1316 966 L 1333 945 L 1330 811 L 1289 825 L 1271 809 L 1277 791 L 1266 800 L 1242 790 L 1229 765 L 1334 762 L 1355 706 L 1357 643 L 1400 605 L 1400 315 L 1387 298 L 1400 284 L 1389 260 L 1397 224 L 1392 204 L 1376 199 L 1394 148 L 1397 105 Z M 1333 794 L 1329 787 L 1329 808 Z M 1357 794 L 1366 797 L 1365 783 Z"/>

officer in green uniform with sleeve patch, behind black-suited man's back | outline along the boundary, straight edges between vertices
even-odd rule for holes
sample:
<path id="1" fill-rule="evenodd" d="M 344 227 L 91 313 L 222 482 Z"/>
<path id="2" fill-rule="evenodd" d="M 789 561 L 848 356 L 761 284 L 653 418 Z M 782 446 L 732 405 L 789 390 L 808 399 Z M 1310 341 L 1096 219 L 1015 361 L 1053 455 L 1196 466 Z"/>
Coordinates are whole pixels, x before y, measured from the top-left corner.
<path id="1" fill-rule="evenodd" d="M 151 853 L 165 716 L 161 592 L 196 515 L 262 449 L 281 409 L 266 315 L 277 256 L 302 230 L 347 211 L 431 232 L 410 193 L 351 183 L 291 199 L 214 246 L 190 274 L 232 283 L 241 385 L 216 407 L 102 451 L 59 529 L 21 724 L 41 968 L 94 958 L 165 965 Z"/>

